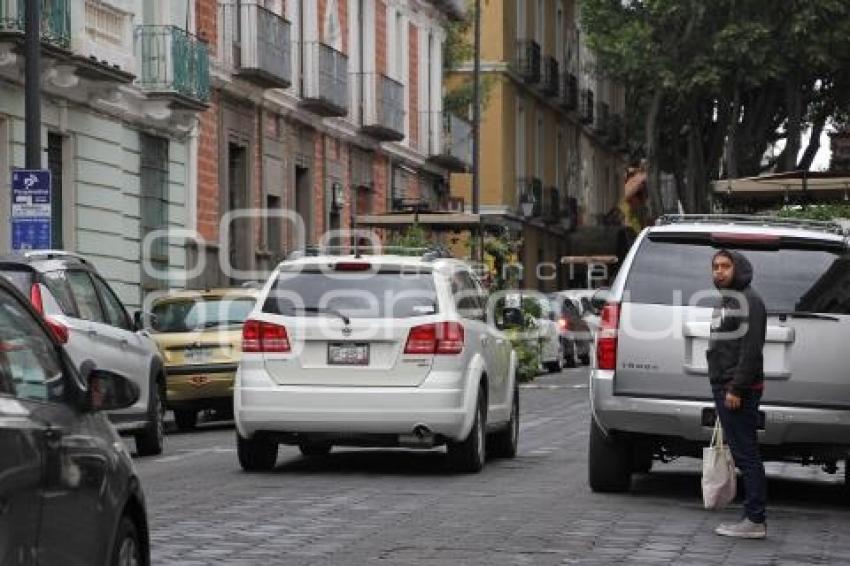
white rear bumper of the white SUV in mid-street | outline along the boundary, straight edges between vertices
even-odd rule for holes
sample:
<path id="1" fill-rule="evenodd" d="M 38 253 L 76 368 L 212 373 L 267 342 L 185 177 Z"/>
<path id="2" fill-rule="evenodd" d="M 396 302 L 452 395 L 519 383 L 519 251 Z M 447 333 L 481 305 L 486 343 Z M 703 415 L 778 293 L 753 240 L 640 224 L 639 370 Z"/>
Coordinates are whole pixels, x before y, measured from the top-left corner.
<path id="1" fill-rule="evenodd" d="M 472 426 L 466 376 L 431 372 L 418 387 L 281 386 L 265 370 L 240 367 L 234 416 L 243 437 L 280 433 L 409 435 L 420 425 L 458 440 Z"/>

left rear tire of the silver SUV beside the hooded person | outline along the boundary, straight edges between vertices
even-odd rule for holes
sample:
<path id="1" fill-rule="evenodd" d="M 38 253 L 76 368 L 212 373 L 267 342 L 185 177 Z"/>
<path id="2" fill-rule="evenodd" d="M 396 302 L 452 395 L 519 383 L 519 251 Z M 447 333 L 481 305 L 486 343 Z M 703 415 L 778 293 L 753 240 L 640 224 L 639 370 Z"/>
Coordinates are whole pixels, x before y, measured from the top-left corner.
<path id="1" fill-rule="evenodd" d="M 590 489 L 599 493 L 628 491 L 632 480 L 631 446 L 605 435 L 596 420 L 590 419 L 590 447 L 587 475 Z"/>

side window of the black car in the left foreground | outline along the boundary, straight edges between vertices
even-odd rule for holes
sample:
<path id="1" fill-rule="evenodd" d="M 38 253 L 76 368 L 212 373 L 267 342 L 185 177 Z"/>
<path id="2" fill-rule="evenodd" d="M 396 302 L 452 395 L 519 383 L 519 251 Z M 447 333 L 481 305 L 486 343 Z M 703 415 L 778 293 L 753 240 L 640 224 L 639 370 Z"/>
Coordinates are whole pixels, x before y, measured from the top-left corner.
<path id="1" fill-rule="evenodd" d="M 52 401 L 63 396 L 62 364 L 53 342 L 32 315 L 0 291 L 0 383 L 17 397 Z"/>

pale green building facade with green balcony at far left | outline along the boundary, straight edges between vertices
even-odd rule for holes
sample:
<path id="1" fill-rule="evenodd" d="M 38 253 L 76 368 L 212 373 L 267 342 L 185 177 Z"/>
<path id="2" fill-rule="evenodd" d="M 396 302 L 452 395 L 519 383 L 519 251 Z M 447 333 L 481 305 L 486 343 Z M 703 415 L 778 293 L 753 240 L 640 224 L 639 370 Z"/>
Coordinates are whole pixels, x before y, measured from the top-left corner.
<path id="1" fill-rule="evenodd" d="M 9 173 L 24 166 L 24 5 L 0 0 L 4 251 Z M 191 33 L 193 17 L 187 4 L 165 0 L 42 0 L 52 247 L 89 257 L 131 307 L 170 285 L 158 272 L 185 266 L 182 244 L 158 235 L 186 224 L 190 132 L 209 96 L 207 48 Z"/>

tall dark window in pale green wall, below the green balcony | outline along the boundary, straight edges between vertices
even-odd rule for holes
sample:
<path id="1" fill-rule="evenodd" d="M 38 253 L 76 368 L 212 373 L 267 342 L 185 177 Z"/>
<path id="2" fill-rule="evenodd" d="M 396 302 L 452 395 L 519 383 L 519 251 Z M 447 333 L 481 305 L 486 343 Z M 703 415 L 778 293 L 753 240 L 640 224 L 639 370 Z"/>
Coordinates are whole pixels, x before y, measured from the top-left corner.
<path id="1" fill-rule="evenodd" d="M 141 143 L 141 234 L 145 237 L 156 230 L 168 227 L 168 140 L 147 134 L 140 135 Z M 144 251 L 144 258 L 160 273 L 168 268 L 168 238 L 158 237 Z M 143 273 L 145 290 L 165 287 L 162 279 Z"/>

